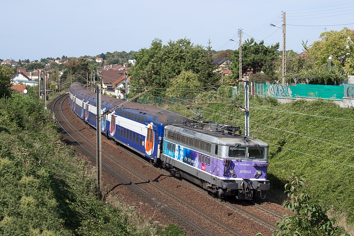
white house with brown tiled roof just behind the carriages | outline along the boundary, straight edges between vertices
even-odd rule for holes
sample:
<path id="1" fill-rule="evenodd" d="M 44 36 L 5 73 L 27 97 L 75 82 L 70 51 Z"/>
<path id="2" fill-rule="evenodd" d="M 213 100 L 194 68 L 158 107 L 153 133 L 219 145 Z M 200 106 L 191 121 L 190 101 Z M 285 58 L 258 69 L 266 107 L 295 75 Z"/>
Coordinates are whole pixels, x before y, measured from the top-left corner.
<path id="1" fill-rule="evenodd" d="M 107 87 L 107 90 L 105 90 L 105 92 L 114 94 L 118 98 L 124 98 L 126 72 L 127 72 L 126 70 L 103 70 L 102 87 Z M 127 77 L 127 83 L 128 83 L 127 87 L 129 88 L 130 76 Z"/>

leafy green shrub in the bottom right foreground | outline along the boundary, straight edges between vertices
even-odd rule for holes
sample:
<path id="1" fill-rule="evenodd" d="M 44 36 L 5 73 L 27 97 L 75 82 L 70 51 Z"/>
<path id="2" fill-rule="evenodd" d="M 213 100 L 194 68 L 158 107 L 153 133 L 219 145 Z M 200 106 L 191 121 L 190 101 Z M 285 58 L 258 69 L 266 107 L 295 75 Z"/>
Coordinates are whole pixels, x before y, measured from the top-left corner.
<path id="1" fill-rule="evenodd" d="M 301 193 L 305 180 L 292 174 L 290 182 L 285 184 L 285 193 L 291 201 L 285 201 L 284 207 L 293 214 L 285 214 L 281 221 L 275 223 L 274 236 L 349 236 L 344 228 L 336 226 L 335 220 L 329 219 L 326 209 L 322 209 L 312 194 Z M 257 234 L 262 235 L 262 234 Z"/>

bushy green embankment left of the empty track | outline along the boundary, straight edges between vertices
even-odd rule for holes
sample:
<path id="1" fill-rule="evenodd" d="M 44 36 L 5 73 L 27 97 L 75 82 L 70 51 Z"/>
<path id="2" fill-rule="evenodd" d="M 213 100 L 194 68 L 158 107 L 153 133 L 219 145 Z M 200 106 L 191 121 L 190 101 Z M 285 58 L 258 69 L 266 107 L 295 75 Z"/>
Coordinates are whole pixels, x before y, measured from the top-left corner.
<path id="1" fill-rule="evenodd" d="M 92 169 L 61 142 L 50 116 L 30 96 L 0 99 L 0 235 L 185 234 L 142 225 L 115 198 L 99 200 Z"/>

